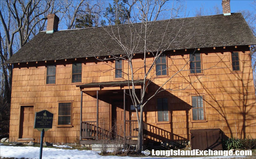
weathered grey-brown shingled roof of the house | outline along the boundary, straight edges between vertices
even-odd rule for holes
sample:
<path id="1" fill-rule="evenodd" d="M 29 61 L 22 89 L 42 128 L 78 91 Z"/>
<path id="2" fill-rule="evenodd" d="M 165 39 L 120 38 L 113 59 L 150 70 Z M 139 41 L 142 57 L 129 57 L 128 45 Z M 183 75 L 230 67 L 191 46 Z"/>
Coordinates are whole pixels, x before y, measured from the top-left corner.
<path id="1" fill-rule="evenodd" d="M 130 35 L 129 25 L 131 24 L 118 26 L 121 30 L 122 40 L 124 40 L 125 34 Z M 141 23 L 133 24 L 133 26 L 140 27 Z M 148 50 L 156 51 L 158 49 L 166 26 L 168 28 L 164 44 L 168 44 L 170 40 L 174 39 L 168 47 L 169 50 L 256 44 L 256 37 L 242 14 L 233 13 L 230 16 L 220 14 L 151 22 L 149 29 L 152 30 L 152 33 L 147 44 Z M 110 33 L 113 31 L 116 35 L 118 33 L 117 26 L 60 30 L 52 34 L 40 32 L 6 63 L 122 54 L 123 49 L 109 36 L 106 30 Z M 178 36 L 175 37 L 177 33 Z M 143 42 L 141 40 L 136 52 L 142 50 Z"/>

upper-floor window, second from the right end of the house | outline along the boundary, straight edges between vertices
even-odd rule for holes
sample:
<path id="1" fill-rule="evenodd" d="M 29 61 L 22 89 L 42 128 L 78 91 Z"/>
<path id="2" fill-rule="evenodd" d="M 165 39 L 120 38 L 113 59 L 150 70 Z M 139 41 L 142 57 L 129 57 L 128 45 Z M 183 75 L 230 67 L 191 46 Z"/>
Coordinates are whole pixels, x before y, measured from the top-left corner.
<path id="1" fill-rule="evenodd" d="M 201 54 L 190 54 L 190 73 L 201 73 Z"/>

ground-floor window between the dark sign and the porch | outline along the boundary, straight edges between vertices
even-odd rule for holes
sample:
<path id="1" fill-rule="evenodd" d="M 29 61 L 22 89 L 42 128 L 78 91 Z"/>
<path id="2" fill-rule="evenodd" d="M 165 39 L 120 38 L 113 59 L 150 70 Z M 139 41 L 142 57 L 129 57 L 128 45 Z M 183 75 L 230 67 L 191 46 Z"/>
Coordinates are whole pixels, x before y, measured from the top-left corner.
<path id="1" fill-rule="evenodd" d="M 59 103 L 58 125 L 71 125 L 71 103 Z"/>

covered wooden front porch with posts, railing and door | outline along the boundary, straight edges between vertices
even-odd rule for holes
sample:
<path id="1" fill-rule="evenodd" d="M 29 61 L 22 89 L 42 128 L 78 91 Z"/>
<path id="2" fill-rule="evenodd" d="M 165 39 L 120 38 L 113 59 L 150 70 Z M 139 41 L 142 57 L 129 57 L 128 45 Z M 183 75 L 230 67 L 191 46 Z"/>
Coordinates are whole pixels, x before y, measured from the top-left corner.
<path id="1" fill-rule="evenodd" d="M 148 81 L 147 81 L 148 82 Z M 136 94 L 142 94 L 143 80 L 135 82 Z M 128 108 L 128 81 L 100 82 L 78 85 L 81 90 L 81 113 L 80 113 L 80 143 L 97 144 L 103 138 L 114 142 L 116 138 L 126 139 L 130 144 L 137 143 L 138 124 L 137 119 L 130 119 Z M 147 90 L 146 90 L 147 91 Z M 96 120 L 83 120 L 83 94 L 96 98 Z M 112 100 L 103 97 L 113 97 Z M 109 124 L 104 126 L 99 123 L 99 100 L 109 103 Z M 131 105 L 130 105 L 131 106 Z"/>

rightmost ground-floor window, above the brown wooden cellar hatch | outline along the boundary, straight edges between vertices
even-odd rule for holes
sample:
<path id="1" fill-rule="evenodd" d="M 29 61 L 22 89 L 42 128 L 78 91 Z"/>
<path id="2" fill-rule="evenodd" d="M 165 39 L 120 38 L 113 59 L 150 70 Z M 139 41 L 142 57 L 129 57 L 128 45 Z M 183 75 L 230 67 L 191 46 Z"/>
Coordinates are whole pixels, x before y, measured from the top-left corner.
<path id="1" fill-rule="evenodd" d="M 192 96 L 193 120 L 204 120 L 204 103 L 202 96 Z"/>

